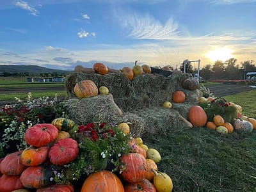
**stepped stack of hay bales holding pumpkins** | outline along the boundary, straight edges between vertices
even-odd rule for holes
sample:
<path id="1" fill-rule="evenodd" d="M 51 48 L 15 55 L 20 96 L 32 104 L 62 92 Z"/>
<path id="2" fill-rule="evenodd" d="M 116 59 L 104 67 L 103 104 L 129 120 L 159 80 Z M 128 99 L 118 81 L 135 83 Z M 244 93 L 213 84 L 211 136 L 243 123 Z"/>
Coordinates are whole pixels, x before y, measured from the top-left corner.
<path id="1" fill-rule="evenodd" d="M 179 116 L 182 114 L 188 118 L 189 107 L 198 104 L 199 90 L 190 91 L 182 88 L 182 82 L 186 78 L 188 78 L 187 74 L 177 74 L 172 77 L 142 74 L 130 81 L 122 73 L 109 73 L 102 76 L 96 73 L 75 72 L 66 78 L 68 98 L 64 103 L 70 112 L 69 118 L 79 124 L 131 122 L 131 131 L 136 136 L 145 133 L 165 134 L 170 132 L 170 129 L 186 128 L 186 125 L 180 122 Z M 123 115 L 118 115 L 116 107 L 108 96 L 76 98 L 74 86 L 85 79 L 92 80 L 98 88 L 108 87 L 109 93 L 113 95 Z M 173 104 L 172 109 L 163 108 L 163 102 L 166 100 L 172 102 L 172 94 L 177 90 L 186 93 L 186 102 Z"/>

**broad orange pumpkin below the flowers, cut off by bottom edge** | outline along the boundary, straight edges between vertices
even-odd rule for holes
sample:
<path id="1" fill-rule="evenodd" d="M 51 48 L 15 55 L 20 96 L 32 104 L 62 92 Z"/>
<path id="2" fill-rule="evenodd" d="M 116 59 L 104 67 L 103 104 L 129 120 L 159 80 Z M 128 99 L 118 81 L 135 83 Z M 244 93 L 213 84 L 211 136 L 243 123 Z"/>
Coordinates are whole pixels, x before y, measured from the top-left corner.
<path id="1" fill-rule="evenodd" d="M 103 170 L 92 173 L 84 180 L 81 192 L 124 192 L 121 180 L 112 172 Z"/>

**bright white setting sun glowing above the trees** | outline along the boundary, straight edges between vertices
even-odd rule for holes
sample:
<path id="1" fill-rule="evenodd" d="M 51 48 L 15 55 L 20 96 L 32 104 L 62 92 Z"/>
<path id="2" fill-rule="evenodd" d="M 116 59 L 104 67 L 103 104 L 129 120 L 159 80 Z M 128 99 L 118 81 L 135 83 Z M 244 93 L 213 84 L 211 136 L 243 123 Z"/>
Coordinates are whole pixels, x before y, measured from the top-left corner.
<path id="1" fill-rule="evenodd" d="M 231 58 L 234 58 L 234 56 L 232 55 L 232 50 L 228 49 L 226 47 L 222 47 L 219 49 L 215 49 L 213 51 L 207 52 L 207 54 L 205 54 L 211 61 L 227 61 Z"/>

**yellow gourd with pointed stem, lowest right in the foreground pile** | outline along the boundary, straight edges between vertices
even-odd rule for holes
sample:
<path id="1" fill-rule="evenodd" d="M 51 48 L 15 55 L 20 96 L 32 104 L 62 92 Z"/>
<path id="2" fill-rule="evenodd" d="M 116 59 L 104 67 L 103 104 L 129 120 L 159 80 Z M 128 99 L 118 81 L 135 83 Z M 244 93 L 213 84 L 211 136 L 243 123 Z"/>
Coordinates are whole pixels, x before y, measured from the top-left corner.
<path id="1" fill-rule="evenodd" d="M 172 191 L 173 184 L 172 179 L 166 173 L 157 172 L 156 170 L 152 170 L 155 174 L 153 183 L 157 189 L 157 192 L 167 192 Z"/>

